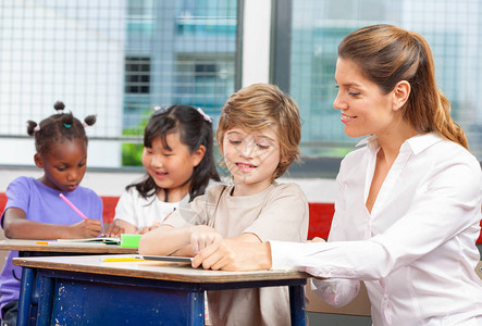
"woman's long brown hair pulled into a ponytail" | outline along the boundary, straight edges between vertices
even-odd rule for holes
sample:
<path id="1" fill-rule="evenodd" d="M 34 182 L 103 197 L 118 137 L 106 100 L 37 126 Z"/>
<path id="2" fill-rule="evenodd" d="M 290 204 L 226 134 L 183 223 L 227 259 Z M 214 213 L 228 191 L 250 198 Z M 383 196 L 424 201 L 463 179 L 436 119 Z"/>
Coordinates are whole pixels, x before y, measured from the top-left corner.
<path id="1" fill-rule="evenodd" d="M 464 130 L 450 117 L 450 102 L 436 86 L 432 51 L 422 36 L 392 25 L 368 26 L 342 40 L 338 57 L 355 62 L 385 93 L 407 80 L 411 90 L 404 118 L 417 133 L 435 131 L 468 148 Z"/>

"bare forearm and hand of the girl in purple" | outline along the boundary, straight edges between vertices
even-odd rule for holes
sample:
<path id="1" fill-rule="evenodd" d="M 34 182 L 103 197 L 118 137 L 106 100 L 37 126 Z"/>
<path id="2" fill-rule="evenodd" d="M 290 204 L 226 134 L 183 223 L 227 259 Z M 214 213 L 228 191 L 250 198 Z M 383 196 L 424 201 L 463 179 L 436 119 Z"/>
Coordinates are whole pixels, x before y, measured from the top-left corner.
<path id="1" fill-rule="evenodd" d="M 102 234 L 98 220 L 84 220 L 71 225 L 28 221 L 23 210 L 10 208 L 3 216 L 5 237 L 10 239 L 69 239 L 92 238 Z"/>

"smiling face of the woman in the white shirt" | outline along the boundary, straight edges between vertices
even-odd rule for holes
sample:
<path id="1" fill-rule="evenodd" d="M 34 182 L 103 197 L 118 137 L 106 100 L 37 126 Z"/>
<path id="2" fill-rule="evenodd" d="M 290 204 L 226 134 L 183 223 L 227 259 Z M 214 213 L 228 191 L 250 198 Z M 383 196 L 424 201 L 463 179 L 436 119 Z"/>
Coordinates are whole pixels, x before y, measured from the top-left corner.
<path id="1" fill-rule="evenodd" d="M 375 134 L 380 137 L 395 130 L 401 117 L 393 110 L 393 91 L 384 95 L 350 60 L 337 60 L 335 80 L 338 95 L 333 106 L 342 111 L 346 135 L 360 137 Z"/>

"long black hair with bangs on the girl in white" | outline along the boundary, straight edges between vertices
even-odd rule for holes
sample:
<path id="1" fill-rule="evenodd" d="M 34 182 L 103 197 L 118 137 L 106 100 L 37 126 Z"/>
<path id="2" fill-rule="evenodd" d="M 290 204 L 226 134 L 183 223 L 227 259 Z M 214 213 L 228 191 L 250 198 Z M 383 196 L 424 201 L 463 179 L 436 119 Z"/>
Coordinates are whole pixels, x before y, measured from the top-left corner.
<path id="1" fill-rule="evenodd" d="M 214 164 L 212 123 L 202 111 L 188 105 L 172 105 L 156 111 L 144 129 L 144 147 L 152 148 L 155 139 L 160 138 L 164 148 L 170 148 L 166 137 L 178 133 L 180 140 L 185 145 L 189 153 L 194 153 L 202 145 L 206 148 L 201 162 L 194 167 L 193 175 L 188 179 L 189 201 L 199 195 L 203 195 L 210 179 L 220 180 Z M 148 198 L 160 189 L 149 174 L 146 174 L 140 183 L 126 187 L 135 187 L 140 196 Z"/>

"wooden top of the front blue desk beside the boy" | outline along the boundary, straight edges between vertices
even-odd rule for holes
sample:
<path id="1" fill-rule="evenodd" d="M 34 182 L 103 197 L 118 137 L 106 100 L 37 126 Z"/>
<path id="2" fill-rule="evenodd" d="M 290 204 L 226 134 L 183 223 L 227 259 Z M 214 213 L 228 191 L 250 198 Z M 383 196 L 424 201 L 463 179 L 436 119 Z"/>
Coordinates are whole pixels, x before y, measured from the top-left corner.
<path id="1" fill-rule="evenodd" d="M 160 261 L 103 262 L 104 258 L 135 255 L 79 255 L 14 259 L 13 264 L 34 268 L 127 276 L 188 283 L 233 283 L 300 279 L 309 274 L 297 271 L 223 272 L 193 268 L 189 263 Z"/>

